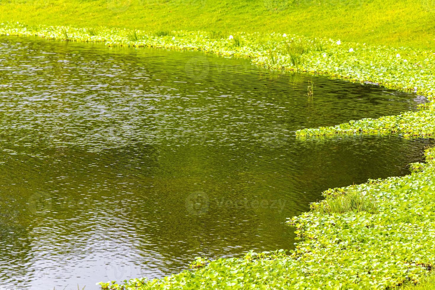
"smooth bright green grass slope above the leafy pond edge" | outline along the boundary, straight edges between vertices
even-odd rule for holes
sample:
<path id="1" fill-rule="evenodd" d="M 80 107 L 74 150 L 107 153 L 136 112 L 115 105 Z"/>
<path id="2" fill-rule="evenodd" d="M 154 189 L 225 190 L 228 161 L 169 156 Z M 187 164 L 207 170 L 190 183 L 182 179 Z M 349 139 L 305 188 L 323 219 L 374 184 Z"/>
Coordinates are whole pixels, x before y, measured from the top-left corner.
<path id="1" fill-rule="evenodd" d="M 140 30 L 277 32 L 435 47 L 434 0 L 1 0 L 0 21 Z"/>

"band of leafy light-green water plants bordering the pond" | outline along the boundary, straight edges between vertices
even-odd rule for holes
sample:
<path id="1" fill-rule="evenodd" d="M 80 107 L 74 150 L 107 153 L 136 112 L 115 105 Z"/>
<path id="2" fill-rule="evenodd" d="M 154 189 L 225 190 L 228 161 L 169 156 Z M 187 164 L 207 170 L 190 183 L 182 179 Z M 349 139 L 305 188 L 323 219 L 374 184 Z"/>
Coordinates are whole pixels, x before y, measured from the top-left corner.
<path id="1" fill-rule="evenodd" d="M 159 36 L 160 34 L 160 36 Z M 339 40 L 308 39 L 284 34 L 211 35 L 201 32 L 27 27 L 2 23 L 0 35 L 38 36 L 55 40 L 104 42 L 108 46 L 201 50 L 225 57 L 251 58 L 271 70 L 321 73 L 355 82 L 371 81 L 405 91 L 416 91 L 429 102 L 416 112 L 378 119 L 350 121 L 337 126 L 297 131 L 299 137 L 338 133 L 399 133 L 431 137 L 435 129 L 435 64 L 432 51 L 374 47 Z M 193 60 L 201 73 L 201 59 Z M 197 70 L 192 71 L 193 76 Z M 161 287 L 191 288 L 346 288 L 395 287 L 418 283 L 435 260 L 435 149 L 426 163 L 414 165 L 405 177 L 326 190 L 327 197 L 289 224 L 303 239 L 295 250 L 247 253 L 243 258 L 197 259 L 194 271 L 162 279 L 127 281 L 123 286 L 101 283 L 103 289 Z M 349 202 L 346 196 L 357 196 Z M 363 207 L 371 200 L 371 210 Z M 347 205 L 345 203 L 348 202 Z M 130 288 L 129 288 L 130 289 Z"/>

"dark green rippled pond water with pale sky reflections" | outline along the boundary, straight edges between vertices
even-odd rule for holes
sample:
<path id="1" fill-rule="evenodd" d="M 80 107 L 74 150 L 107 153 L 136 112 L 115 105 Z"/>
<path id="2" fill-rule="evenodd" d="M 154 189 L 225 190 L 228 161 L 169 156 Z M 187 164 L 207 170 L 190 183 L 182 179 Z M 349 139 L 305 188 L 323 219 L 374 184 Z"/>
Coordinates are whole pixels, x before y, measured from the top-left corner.
<path id="1" fill-rule="evenodd" d="M 298 139 L 425 100 L 193 52 L 0 37 L 0 97 L 0 289 L 291 248 L 286 218 L 322 190 L 407 174 L 428 145 Z"/>

